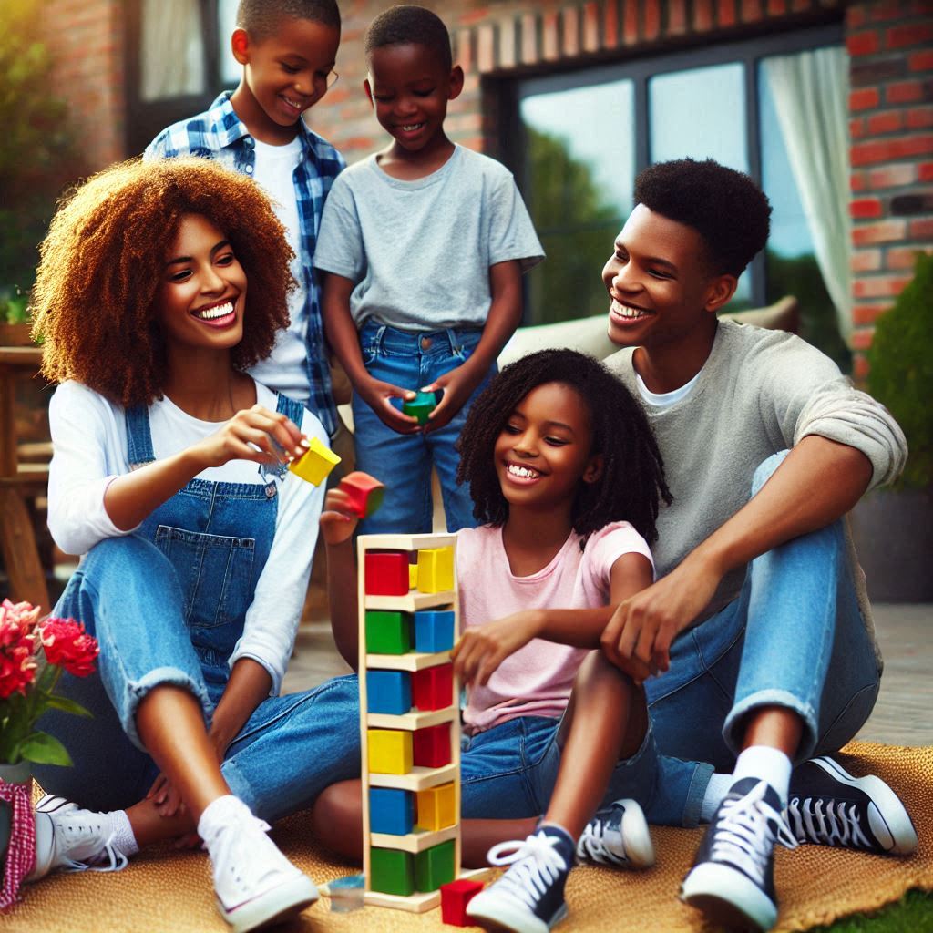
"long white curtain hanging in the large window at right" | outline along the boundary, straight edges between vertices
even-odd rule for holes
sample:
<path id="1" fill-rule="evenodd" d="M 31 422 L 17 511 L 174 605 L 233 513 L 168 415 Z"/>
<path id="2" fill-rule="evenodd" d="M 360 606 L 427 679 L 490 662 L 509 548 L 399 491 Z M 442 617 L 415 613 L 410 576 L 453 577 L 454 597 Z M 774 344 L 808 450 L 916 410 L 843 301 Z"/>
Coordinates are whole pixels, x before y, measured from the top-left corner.
<path id="1" fill-rule="evenodd" d="M 836 306 L 842 338 L 852 332 L 849 216 L 849 58 L 842 48 L 763 62 L 816 263 Z M 802 296 L 801 296 L 802 297 Z"/>

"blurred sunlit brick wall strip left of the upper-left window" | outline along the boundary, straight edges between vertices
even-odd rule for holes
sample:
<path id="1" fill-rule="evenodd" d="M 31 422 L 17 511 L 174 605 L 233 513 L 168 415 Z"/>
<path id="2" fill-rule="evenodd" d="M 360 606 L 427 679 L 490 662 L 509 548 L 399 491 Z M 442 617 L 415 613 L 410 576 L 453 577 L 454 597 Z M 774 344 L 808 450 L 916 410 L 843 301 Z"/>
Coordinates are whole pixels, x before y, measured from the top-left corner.
<path id="1" fill-rule="evenodd" d="M 88 170 L 122 159 L 123 21 L 120 0 L 42 0 L 55 55 L 52 93 L 69 105 Z"/>

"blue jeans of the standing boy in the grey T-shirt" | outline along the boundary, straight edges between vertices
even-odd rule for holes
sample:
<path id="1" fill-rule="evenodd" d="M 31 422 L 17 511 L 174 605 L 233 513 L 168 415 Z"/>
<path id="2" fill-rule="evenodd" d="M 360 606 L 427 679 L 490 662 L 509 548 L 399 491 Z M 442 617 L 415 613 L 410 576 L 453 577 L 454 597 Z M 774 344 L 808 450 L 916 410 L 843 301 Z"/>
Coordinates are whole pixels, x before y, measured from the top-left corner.
<path id="1" fill-rule="evenodd" d="M 439 376 L 463 365 L 480 342 L 480 330 L 437 330 L 416 333 L 368 321 L 360 330 L 363 363 L 373 379 L 418 390 Z M 494 376 L 490 369 L 463 408 L 451 421 L 429 434 L 397 434 L 354 395 L 353 417 L 356 467 L 385 483 L 383 505 L 360 524 L 365 535 L 431 531 L 431 465 L 438 470 L 447 516 L 447 530 L 473 528 L 469 488 L 457 485 L 460 455 L 454 444 L 466 423 L 466 412 Z"/>

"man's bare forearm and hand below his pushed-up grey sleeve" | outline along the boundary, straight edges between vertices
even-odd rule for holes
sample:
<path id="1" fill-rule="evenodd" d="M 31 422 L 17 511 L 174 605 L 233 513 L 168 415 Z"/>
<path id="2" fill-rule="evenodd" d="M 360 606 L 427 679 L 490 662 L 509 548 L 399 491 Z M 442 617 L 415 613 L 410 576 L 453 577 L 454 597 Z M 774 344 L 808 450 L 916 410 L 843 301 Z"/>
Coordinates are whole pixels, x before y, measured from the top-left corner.
<path id="1" fill-rule="evenodd" d="M 619 606 L 606 629 L 606 653 L 617 663 L 637 658 L 666 671 L 675 636 L 703 611 L 728 571 L 842 518 L 870 480 L 870 461 L 854 447 L 802 439 L 728 522 L 670 574 Z"/>

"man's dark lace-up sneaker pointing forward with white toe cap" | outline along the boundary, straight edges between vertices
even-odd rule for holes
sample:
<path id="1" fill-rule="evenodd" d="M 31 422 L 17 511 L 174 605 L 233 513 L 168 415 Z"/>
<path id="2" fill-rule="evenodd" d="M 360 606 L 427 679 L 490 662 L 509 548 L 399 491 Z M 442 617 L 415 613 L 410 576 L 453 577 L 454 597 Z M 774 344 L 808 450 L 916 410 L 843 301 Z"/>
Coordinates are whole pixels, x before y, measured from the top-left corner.
<path id="1" fill-rule="evenodd" d="M 706 829 L 680 898 L 716 926 L 767 930 L 777 920 L 774 843 L 797 848 L 777 791 L 764 781 L 736 781 Z"/>

